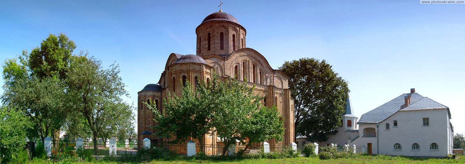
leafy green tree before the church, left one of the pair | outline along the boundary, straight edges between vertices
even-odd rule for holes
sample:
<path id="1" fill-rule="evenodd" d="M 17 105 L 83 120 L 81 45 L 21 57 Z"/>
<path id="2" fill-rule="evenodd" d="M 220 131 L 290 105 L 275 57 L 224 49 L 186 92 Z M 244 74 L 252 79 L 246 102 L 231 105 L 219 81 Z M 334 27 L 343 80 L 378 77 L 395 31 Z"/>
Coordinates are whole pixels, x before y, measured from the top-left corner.
<path id="1" fill-rule="evenodd" d="M 182 89 L 182 97 L 168 93 L 164 102 L 164 112 L 160 113 L 154 102 L 147 104 L 155 116 L 155 135 L 168 138 L 172 143 L 183 143 L 189 137 L 199 140 L 200 151 L 204 151 L 203 138 L 212 134 L 214 106 L 201 104 L 205 102 L 204 95 L 196 95 L 189 82 Z M 165 117 L 166 116 L 166 117 Z"/>

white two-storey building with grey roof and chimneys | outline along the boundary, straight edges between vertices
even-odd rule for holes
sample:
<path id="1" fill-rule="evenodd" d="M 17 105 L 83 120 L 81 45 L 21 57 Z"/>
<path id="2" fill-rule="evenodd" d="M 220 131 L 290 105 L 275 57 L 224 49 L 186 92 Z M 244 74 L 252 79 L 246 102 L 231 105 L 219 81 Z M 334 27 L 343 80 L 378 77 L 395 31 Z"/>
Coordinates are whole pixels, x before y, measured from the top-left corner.
<path id="1" fill-rule="evenodd" d="M 446 157 L 452 154 L 450 119 L 447 106 L 412 88 L 410 93 L 363 114 L 357 123 L 359 138 L 350 144 L 365 146 L 372 154 Z"/>

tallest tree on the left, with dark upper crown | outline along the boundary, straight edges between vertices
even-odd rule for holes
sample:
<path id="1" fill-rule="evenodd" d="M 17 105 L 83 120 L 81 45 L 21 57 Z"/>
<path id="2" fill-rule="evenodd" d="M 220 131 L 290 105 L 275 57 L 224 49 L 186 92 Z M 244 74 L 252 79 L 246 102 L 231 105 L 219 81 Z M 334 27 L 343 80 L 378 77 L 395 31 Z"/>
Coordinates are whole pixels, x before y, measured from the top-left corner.
<path id="1" fill-rule="evenodd" d="M 58 138 L 66 120 L 62 79 L 66 78 L 69 58 L 75 48 L 65 34 L 50 34 L 31 53 L 24 50 L 19 63 L 16 59 L 8 59 L 3 66 L 6 81 L 3 101 L 25 111 L 42 140 L 50 134 Z"/>

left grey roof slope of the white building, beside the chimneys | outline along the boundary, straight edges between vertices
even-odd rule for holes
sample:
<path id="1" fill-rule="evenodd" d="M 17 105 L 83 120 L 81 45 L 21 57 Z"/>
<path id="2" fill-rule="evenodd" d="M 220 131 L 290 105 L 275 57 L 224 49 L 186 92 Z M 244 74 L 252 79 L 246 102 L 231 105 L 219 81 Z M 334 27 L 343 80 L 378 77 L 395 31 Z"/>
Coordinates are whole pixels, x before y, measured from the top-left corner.
<path id="1" fill-rule="evenodd" d="M 413 105 L 420 99 L 424 98 L 418 93 L 405 93 L 401 94 L 399 97 L 392 99 L 391 101 L 371 110 L 370 112 L 366 112 L 365 114 L 360 117 L 358 123 L 379 123 L 392 114 L 396 113 L 399 111 L 400 106 L 405 103 L 404 96 L 408 96 L 409 94 L 412 94 L 412 97 L 410 99 L 410 104 Z"/>

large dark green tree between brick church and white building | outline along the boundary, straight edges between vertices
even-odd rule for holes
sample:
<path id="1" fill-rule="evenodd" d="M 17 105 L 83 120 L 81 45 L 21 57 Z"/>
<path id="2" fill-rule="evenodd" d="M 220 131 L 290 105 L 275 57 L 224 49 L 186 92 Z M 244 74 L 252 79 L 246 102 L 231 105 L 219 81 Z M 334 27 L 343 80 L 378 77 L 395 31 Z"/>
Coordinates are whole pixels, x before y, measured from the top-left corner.
<path id="1" fill-rule="evenodd" d="M 279 70 L 289 76 L 295 98 L 295 134 L 310 141 L 326 141 L 340 125 L 348 97 L 347 82 L 325 60 L 302 58 L 286 61 Z"/>

